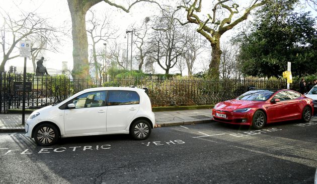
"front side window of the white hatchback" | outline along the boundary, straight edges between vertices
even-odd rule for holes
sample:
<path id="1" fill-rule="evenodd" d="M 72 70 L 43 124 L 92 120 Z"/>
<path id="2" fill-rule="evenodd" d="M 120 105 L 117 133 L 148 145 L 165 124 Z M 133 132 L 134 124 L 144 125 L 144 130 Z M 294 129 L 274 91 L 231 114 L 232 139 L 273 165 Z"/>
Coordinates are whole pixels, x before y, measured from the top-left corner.
<path id="1" fill-rule="evenodd" d="M 105 106 L 106 92 L 94 91 L 82 94 L 72 99 L 75 108 L 101 107 Z"/>

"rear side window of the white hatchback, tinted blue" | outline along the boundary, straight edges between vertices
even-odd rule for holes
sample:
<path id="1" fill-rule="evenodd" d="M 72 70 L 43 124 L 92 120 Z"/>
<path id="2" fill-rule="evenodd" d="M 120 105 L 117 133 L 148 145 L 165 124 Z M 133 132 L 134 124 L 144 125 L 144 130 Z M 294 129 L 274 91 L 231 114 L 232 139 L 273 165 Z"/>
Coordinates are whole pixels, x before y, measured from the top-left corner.
<path id="1" fill-rule="evenodd" d="M 135 91 L 115 90 L 108 93 L 108 105 L 129 105 L 140 102 L 140 96 Z"/>

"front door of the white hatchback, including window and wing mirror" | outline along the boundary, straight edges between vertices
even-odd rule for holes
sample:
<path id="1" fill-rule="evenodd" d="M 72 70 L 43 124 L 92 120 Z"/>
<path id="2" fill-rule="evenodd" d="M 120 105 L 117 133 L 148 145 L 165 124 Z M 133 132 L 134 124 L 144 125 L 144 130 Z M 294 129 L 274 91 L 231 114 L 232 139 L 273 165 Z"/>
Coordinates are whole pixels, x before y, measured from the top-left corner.
<path id="1" fill-rule="evenodd" d="M 65 134 L 86 134 L 106 132 L 106 91 L 84 93 L 69 103 L 75 108 L 64 111 Z"/>

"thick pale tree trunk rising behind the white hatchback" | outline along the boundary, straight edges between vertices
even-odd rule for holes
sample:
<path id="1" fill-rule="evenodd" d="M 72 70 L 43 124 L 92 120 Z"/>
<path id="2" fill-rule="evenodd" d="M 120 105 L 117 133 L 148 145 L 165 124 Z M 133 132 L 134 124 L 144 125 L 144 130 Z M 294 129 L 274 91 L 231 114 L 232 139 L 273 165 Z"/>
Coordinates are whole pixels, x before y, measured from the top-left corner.
<path id="1" fill-rule="evenodd" d="M 89 8 L 86 1 L 67 0 L 72 22 L 72 76 L 75 79 L 87 79 L 89 76 L 88 38 L 85 16 Z"/>

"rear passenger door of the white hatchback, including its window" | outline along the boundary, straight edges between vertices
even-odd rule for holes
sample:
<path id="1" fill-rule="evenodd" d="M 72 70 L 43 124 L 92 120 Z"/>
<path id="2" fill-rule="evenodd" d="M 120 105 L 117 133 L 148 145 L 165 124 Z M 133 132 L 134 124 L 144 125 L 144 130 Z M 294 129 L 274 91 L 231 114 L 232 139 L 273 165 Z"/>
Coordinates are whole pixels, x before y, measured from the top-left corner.
<path id="1" fill-rule="evenodd" d="M 139 102 L 135 91 L 108 91 L 107 132 L 124 131 L 138 112 Z"/>

